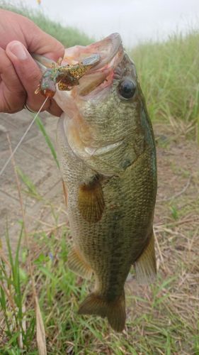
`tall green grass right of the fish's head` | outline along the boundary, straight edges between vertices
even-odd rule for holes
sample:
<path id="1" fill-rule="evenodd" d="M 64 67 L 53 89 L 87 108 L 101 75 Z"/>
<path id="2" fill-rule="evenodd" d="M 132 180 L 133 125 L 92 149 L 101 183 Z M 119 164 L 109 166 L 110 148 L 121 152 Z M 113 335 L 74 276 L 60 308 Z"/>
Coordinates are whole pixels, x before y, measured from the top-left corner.
<path id="1" fill-rule="evenodd" d="M 199 122 L 199 31 L 131 50 L 152 120 Z"/>

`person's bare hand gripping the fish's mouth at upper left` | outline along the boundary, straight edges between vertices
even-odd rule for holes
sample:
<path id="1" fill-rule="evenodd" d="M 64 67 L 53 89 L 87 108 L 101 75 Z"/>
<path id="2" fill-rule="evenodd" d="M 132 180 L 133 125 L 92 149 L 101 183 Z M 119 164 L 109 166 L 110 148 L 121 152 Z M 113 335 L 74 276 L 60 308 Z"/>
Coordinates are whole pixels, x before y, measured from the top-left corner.
<path id="1" fill-rule="evenodd" d="M 38 111 L 44 97 L 35 95 L 42 76 L 30 53 L 57 61 L 64 46 L 24 16 L 0 10 L 0 112 L 21 111 L 27 104 Z M 47 99 L 43 110 L 60 116 L 55 100 Z"/>

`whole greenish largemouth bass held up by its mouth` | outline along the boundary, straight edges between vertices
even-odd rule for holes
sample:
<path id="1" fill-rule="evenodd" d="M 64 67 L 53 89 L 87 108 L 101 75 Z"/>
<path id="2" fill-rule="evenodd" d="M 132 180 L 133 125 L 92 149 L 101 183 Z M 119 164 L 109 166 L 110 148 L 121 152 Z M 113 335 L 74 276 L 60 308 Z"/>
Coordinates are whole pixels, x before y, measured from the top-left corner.
<path id="1" fill-rule="evenodd" d="M 139 283 L 157 274 L 156 147 L 135 63 L 120 35 L 67 48 L 63 63 L 92 55 L 98 55 L 96 65 L 70 91 L 57 88 L 54 97 L 63 110 L 57 150 L 73 239 L 68 266 L 95 280 L 79 314 L 106 317 L 123 332 L 130 269 Z"/>

